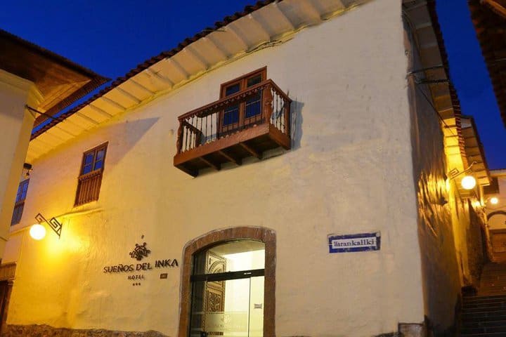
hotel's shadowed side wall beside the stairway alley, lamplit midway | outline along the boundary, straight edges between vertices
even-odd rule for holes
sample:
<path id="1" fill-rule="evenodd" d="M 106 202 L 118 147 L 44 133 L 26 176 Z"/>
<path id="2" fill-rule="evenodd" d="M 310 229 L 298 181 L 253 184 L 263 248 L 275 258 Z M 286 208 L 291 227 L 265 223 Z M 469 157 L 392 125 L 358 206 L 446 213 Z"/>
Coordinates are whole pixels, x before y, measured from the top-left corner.
<path id="1" fill-rule="evenodd" d="M 410 65 L 408 72 L 421 69 L 419 51 L 409 27 L 406 28 L 406 52 Z M 416 84 L 413 77 L 409 77 L 408 97 L 424 310 L 429 333 L 445 336 L 445 333 L 454 329 L 455 308 L 460 303 L 460 270 L 452 211 L 462 208 L 459 208 L 460 199 L 455 184 L 446 185 L 446 155 L 441 124 L 436 111 L 424 98 L 431 97 L 429 88 Z M 465 218 L 461 213 L 455 213 L 455 218 L 458 219 L 458 215 Z"/>

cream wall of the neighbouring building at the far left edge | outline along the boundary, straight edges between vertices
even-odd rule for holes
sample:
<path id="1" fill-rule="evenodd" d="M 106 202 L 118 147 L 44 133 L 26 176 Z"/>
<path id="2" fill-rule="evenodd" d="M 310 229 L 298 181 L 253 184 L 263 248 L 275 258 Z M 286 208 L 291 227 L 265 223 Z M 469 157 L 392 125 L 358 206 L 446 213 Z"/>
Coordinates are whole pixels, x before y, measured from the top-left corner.
<path id="1" fill-rule="evenodd" d="M 25 105 L 37 107 L 39 97 L 33 82 L 0 70 L 0 259 L 34 121 Z"/>

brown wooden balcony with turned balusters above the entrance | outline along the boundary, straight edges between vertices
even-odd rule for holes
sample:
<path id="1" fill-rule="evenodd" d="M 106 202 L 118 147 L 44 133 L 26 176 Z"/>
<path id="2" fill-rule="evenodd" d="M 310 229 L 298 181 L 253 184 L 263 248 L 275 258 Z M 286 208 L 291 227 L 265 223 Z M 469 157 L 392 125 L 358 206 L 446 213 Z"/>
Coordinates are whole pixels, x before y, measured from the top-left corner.
<path id="1" fill-rule="evenodd" d="M 276 147 L 290 150 L 291 103 L 268 79 L 181 115 L 174 166 L 195 177 Z"/>

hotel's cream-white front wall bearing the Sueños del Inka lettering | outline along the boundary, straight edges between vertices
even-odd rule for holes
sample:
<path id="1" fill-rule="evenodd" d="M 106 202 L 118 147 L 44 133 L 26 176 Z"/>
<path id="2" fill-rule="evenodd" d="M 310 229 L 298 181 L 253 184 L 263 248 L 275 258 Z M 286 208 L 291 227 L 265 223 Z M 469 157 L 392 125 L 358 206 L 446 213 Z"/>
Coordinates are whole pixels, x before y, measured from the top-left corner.
<path id="1" fill-rule="evenodd" d="M 292 150 L 198 178 L 174 168 L 176 117 L 265 65 L 294 100 Z M 105 141 L 100 199 L 74 208 L 82 153 Z M 143 241 L 153 259 L 181 261 L 190 239 L 247 225 L 277 234 L 277 336 L 371 336 L 423 321 L 399 1 L 304 29 L 33 164 L 25 214 L 13 227 L 23 239 L 9 246 L 20 258 L 8 324 L 176 336 L 181 267 L 167 279 L 145 272 L 141 286 L 103 267 L 131 263 L 129 251 Z M 61 239 L 28 237 L 38 212 L 63 222 Z M 382 233 L 380 251 L 328 253 L 328 234 L 371 231 Z"/>

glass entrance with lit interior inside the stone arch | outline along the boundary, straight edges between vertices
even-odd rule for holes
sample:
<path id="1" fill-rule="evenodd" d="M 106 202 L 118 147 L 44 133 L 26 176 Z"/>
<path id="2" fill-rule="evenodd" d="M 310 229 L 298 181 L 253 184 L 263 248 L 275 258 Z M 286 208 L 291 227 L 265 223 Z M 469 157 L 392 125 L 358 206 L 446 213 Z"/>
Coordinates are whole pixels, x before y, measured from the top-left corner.
<path id="1" fill-rule="evenodd" d="M 238 240 L 193 256 L 190 336 L 264 336 L 265 244 Z"/>

